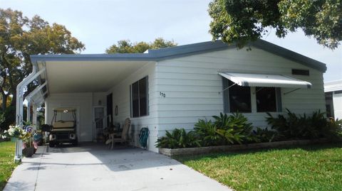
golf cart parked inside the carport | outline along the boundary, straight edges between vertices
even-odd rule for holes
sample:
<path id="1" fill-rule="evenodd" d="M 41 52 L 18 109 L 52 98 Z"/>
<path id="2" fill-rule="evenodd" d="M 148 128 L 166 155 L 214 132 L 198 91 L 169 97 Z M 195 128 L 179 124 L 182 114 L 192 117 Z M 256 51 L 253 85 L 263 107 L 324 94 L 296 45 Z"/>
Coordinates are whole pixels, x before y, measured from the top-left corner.
<path id="1" fill-rule="evenodd" d="M 58 120 L 57 120 L 58 118 Z M 56 108 L 53 109 L 52 128 L 49 138 L 49 146 L 54 147 L 61 143 L 77 145 L 76 133 L 76 109 Z"/>

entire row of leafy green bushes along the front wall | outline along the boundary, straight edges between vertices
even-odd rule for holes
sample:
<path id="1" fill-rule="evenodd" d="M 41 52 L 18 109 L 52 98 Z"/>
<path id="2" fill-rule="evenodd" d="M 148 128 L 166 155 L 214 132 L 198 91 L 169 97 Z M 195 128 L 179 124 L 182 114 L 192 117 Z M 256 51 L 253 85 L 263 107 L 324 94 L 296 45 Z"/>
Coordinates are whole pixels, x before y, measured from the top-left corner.
<path id="1" fill-rule="evenodd" d="M 342 120 L 326 119 L 324 113 L 299 115 L 286 109 L 286 115 L 276 117 L 267 113 L 266 121 L 271 129 L 254 128 L 247 117 L 240 113 L 212 116 L 212 120 L 199 119 L 193 131 L 174 129 L 158 138 L 157 148 L 192 148 L 225 146 L 243 143 L 262 143 L 314 138 L 341 139 Z"/>

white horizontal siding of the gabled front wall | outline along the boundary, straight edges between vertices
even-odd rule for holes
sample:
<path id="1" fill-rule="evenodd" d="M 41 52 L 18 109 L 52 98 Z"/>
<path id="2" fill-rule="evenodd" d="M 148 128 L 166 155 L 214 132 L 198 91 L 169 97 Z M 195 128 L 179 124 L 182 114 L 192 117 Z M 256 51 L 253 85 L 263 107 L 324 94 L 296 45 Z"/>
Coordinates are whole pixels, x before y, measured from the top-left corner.
<path id="1" fill-rule="evenodd" d="M 310 75 L 291 75 L 293 68 L 310 70 Z M 234 48 L 218 50 L 157 62 L 155 96 L 160 121 L 159 136 L 164 135 L 164 130 L 192 129 L 198 119 L 212 119 L 213 115 L 223 112 L 219 71 L 288 75 L 311 82 L 311 89 L 299 89 L 290 94 L 284 93 L 293 88 L 281 88 L 282 110 L 287 108 L 296 113 L 311 113 L 325 109 L 322 72 L 259 48 L 252 48 L 251 51 Z M 251 91 L 252 113 L 244 115 L 254 126 L 266 126 L 266 114 L 257 113 L 255 87 Z M 160 97 L 160 92 L 165 94 L 165 98 Z"/>

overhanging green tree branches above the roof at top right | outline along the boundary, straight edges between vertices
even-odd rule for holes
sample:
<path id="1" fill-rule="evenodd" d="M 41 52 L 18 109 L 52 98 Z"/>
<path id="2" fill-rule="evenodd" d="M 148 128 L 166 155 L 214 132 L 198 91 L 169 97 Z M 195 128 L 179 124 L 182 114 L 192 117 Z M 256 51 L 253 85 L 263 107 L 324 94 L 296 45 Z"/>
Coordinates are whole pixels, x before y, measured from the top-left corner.
<path id="1" fill-rule="evenodd" d="M 242 48 L 275 28 L 276 36 L 301 28 L 318 44 L 337 48 L 342 40 L 340 0 L 213 0 L 209 32 L 214 39 Z"/>

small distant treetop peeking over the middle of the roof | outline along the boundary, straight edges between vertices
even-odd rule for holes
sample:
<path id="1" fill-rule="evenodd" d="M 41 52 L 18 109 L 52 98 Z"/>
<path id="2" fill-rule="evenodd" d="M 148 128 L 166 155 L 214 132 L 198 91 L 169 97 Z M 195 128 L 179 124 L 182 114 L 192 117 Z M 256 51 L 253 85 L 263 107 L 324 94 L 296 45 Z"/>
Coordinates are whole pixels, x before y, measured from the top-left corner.
<path id="1" fill-rule="evenodd" d="M 152 43 L 130 43 L 130 40 L 119 40 L 117 44 L 111 45 L 105 53 L 144 53 L 148 49 L 167 48 L 177 45 L 173 40 L 156 38 Z"/>

